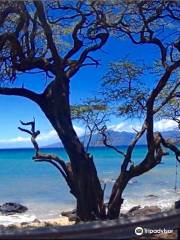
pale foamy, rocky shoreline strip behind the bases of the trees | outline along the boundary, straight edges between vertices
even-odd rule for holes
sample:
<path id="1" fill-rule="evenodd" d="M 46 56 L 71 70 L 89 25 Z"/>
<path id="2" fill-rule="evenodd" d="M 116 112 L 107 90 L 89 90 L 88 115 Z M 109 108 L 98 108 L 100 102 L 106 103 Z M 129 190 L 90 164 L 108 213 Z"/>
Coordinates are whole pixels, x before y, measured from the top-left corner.
<path id="1" fill-rule="evenodd" d="M 161 208 L 158 204 L 136 204 L 132 205 L 128 209 L 121 209 L 120 217 L 131 217 L 131 216 L 148 216 L 160 212 L 168 212 L 169 210 L 174 209 L 174 205 L 167 208 Z M 71 210 L 69 208 L 64 209 L 64 211 L 59 212 L 56 216 L 52 217 L 38 217 L 36 213 L 30 212 L 29 210 L 24 213 L 14 213 L 14 214 L 2 214 L 0 213 L 0 228 L 8 228 L 8 227 L 24 227 L 31 225 L 46 225 L 46 224 L 54 224 L 54 225 L 72 225 L 74 223 L 73 220 L 68 220 L 68 217 L 74 215 L 74 208 L 72 206 Z M 71 217 L 70 217 L 71 218 Z"/>

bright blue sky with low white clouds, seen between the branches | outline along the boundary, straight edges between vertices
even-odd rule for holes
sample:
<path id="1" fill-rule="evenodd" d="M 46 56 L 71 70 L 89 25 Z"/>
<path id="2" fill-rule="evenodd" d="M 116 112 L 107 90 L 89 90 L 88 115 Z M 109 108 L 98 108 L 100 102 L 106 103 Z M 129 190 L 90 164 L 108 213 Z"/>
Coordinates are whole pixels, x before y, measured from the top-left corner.
<path id="1" fill-rule="evenodd" d="M 100 88 L 101 78 L 107 70 L 108 63 L 118 61 L 125 56 L 133 60 L 145 60 L 148 64 L 159 56 L 159 50 L 151 45 L 140 46 L 133 45 L 130 41 L 118 41 L 111 39 L 103 48 L 96 52 L 93 56 L 101 59 L 100 67 L 88 66 L 71 79 L 71 102 L 81 102 L 82 99 L 94 96 Z M 147 79 L 151 84 L 151 77 Z M 15 86 L 21 86 L 22 82 L 26 88 L 41 92 L 45 86 L 46 78 L 43 74 L 22 74 L 18 77 Z M 50 123 L 39 109 L 39 107 L 28 99 L 22 97 L 2 96 L 0 95 L 0 148 L 6 147 L 27 147 L 31 146 L 29 137 L 21 133 L 17 127 L 19 120 L 29 121 L 36 118 L 37 128 L 41 131 L 39 142 L 46 145 L 58 141 L 56 133 L 52 129 Z M 111 128 L 117 131 L 132 131 L 132 126 L 139 128 L 139 122 L 125 122 L 122 119 L 113 118 Z M 167 129 L 173 129 L 173 122 L 157 122 L 157 129 L 166 126 Z M 75 129 L 79 135 L 83 134 L 83 128 L 76 123 Z"/>

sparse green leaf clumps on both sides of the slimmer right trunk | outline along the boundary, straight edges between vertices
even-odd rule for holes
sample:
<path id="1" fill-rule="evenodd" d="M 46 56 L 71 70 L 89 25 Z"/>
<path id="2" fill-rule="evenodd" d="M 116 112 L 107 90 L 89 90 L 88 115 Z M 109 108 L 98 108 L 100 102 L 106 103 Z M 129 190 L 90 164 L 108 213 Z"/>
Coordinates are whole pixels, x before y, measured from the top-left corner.
<path id="1" fill-rule="evenodd" d="M 151 83 L 147 79 L 157 79 L 160 74 L 159 66 L 153 66 L 152 72 L 146 65 L 138 65 L 127 60 L 120 60 L 109 65 L 109 71 L 102 78 L 101 94 L 110 105 L 114 105 L 113 112 L 117 116 L 143 119 L 146 113 L 147 100 L 154 88 L 153 82 Z M 179 91 L 180 81 L 178 72 L 176 72 L 155 100 L 154 111 L 157 118 L 158 116 L 165 117 L 165 111 L 169 112 L 169 118 L 170 113 L 173 116 L 175 108 L 178 109 L 179 107 L 179 100 L 178 98 L 175 99 Z M 171 108 L 172 110 L 169 111 Z M 178 110 L 175 112 L 177 115 Z"/>

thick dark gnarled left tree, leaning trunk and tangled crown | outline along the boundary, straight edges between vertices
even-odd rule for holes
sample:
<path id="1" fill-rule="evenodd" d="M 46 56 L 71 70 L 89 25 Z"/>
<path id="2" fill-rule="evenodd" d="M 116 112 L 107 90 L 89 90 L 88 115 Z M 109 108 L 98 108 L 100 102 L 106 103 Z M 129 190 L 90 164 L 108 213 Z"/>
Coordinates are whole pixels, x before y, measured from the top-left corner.
<path id="1" fill-rule="evenodd" d="M 69 102 L 70 80 L 84 66 L 97 65 L 90 54 L 100 49 L 109 33 L 95 2 L 2 1 L 0 7 L 0 94 L 36 102 L 61 139 L 71 162 L 81 220 L 103 218 L 103 191 L 93 158 L 74 131 Z M 63 27 L 64 26 L 64 27 Z M 64 45 L 64 39 L 71 41 Z M 65 51 L 64 51 L 65 49 Z M 18 73 L 40 69 L 52 79 L 37 94 L 24 87 L 6 87 Z"/>

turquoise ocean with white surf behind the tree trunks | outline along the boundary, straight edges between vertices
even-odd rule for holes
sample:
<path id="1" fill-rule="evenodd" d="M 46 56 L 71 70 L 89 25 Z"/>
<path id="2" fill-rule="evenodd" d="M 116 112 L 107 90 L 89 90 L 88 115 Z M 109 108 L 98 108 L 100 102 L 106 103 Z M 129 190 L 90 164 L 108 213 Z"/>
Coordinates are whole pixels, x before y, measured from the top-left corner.
<path id="1" fill-rule="evenodd" d="M 125 150 L 126 147 L 120 149 Z M 42 151 L 68 159 L 62 148 Z M 102 185 L 107 185 L 107 200 L 119 174 L 122 157 L 104 147 L 92 147 L 89 151 L 94 156 Z M 146 146 L 137 146 L 133 154 L 134 162 L 140 162 L 145 153 Z M 123 195 L 122 212 L 135 205 L 157 205 L 168 209 L 180 199 L 180 169 L 175 190 L 176 161 L 173 153 L 169 153 L 170 155 L 163 158 L 162 164 L 130 181 Z M 59 172 L 48 163 L 34 162 L 33 154 L 33 149 L 0 149 L 0 205 L 5 202 L 18 202 L 27 206 L 29 210 L 22 215 L 24 219 L 56 218 L 62 211 L 75 208 L 75 199 Z M 18 219 L 19 215 L 0 216 L 0 224 L 17 222 Z"/>

